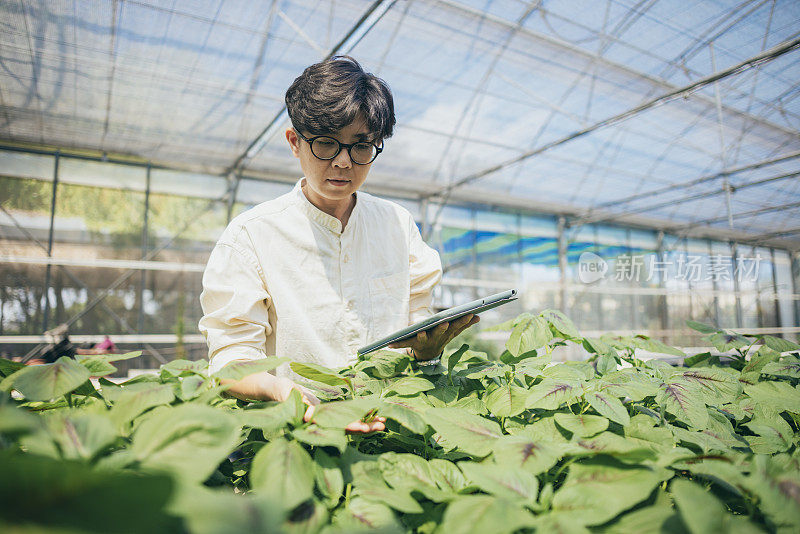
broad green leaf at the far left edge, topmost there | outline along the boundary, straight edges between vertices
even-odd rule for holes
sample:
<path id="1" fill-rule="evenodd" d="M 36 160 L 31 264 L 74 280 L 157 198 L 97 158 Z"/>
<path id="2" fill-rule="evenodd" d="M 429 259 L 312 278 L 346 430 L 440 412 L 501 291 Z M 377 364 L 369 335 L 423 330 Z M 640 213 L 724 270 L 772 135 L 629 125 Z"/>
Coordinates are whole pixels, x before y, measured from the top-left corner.
<path id="1" fill-rule="evenodd" d="M 89 370 L 72 358 L 62 356 L 55 363 L 29 365 L 3 380 L 0 389 L 19 391 L 32 401 L 49 401 L 65 395 L 87 380 Z"/>

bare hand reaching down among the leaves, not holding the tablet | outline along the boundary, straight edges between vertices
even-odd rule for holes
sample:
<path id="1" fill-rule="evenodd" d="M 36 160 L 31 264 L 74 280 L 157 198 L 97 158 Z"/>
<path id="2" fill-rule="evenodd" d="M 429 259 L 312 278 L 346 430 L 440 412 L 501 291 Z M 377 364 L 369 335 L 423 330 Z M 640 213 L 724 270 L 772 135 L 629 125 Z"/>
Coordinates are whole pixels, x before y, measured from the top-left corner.
<path id="1" fill-rule="evenodd" d="M 277 377 L 273 374 L 263 372 L 254 373 L 241 380 L 223 380 L 223 384 L 233 384 L 227 391 L 230 395 L 242 400 L 275 400 L 283 402 L 289 398 L 292 391 L 300 393 L 303 403 L 308 406 L 303 415 L 303 421 L 311 421 L 314 416 L 314 408 L 320 401 L 310 389 L 301 386 L 297 382 L 285 377 Z M 345 427 L 348 432 L 378 432 L 385 430 L 384 423 L 386 418 L 376 417 L 370 422 L 353 421 Z"/>

